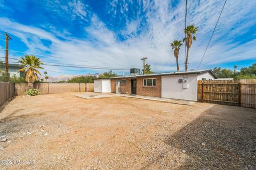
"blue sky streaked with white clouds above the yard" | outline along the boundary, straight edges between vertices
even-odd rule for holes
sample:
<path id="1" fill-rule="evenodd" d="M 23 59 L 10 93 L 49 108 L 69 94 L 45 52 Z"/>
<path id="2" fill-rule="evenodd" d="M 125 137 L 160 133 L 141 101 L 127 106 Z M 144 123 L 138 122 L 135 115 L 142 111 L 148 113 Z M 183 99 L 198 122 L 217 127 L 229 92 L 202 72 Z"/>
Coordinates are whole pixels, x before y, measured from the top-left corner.
<path id="1" fill-rule="evenodd" d="M 189 69 L 197 69 L 223 3 L 188 1 L 187 22 L 199 27 L 190 49 Z M 233 69 L 236 64 L 239 70 L 256 62 L 255 13 L 256 1 L 227 1 L 200 69 Z M 0 0 L 0 14 L 1 57 L 7 31 L 13 38 L 9 49 L 36 54 L 48 64 L 142 69 L 140 58 L 147 56 L 155 72 L 175 71 L 170 43 L 184 37 L 185 27 L 185 1 Z M 14 58 L 23 55 L 10 52 Z M 180 70 L 184 61 L 182 47 Z M 53 76 L 107 71 L 44 67 Z"/>

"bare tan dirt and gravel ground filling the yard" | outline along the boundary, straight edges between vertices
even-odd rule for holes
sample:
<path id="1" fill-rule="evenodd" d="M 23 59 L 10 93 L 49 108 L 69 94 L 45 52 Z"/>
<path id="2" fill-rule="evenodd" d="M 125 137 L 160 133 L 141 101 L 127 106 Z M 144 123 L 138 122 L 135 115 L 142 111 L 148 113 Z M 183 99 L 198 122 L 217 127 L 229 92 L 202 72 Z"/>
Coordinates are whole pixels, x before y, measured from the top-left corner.
<path id="1" fill-rule="evenodd" d="M 255 130 L 251 108 L 19 96 L 0 108 L 0 169 L 256 169 Z"/>

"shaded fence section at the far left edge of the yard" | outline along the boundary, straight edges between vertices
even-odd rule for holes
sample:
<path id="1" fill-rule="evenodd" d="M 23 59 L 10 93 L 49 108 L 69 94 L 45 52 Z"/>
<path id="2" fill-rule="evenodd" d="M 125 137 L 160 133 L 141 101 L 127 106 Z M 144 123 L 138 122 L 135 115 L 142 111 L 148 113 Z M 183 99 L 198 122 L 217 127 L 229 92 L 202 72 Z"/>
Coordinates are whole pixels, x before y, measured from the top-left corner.
<path id="1" fill-rule="evenodd" d="M 0 106 L 15 96 L 15 84 L 0 82 Z"/>

